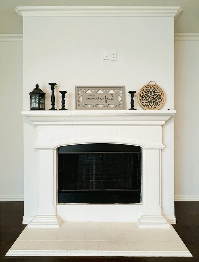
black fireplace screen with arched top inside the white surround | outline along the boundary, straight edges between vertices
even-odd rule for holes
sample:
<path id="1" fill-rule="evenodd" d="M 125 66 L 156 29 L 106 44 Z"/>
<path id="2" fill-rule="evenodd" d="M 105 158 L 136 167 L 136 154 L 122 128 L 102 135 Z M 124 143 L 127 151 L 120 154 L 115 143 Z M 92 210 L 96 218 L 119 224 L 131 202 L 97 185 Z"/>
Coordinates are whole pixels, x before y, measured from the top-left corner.
<path id="1" fill-rule="evenodd" d="M 141 148 L 120 144 L 59 147 L 58 203 L 141 203 Z"/>

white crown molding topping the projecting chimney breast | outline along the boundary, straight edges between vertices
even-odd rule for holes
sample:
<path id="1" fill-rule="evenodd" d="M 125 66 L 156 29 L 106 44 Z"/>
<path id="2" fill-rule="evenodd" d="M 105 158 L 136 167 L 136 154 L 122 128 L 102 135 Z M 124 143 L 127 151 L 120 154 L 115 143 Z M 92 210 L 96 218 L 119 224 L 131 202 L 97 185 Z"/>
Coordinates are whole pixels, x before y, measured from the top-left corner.
<path id="1" fill-rule="evenodd" d="M 183 10 L 181 6 L 101 6 L 101 7 L 16 7 L 23 17 L 38 16 L 173 16 Z"/>

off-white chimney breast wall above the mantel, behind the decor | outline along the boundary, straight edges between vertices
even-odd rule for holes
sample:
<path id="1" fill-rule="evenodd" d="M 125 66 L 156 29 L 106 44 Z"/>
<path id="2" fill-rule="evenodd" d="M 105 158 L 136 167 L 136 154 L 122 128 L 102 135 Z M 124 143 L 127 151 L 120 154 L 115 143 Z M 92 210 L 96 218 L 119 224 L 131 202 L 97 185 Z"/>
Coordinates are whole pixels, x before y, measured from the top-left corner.
<path id="1" fill-rule="evenodd" d="M 138 92 L 150 80 L 165 91 L 162 109 L 174 109 L 173 17 L 23 19 L 24 110 L 30 109 L 31 83 L 32 88 L 38 83 L 46 93 L 47 110 L 51 108 L 49 82 L 57 83 L 55 108 L 61 108 L 59 91 L 68 92 L 68 110 L 75 109 L 75 85 L 125 85 L 129 109 L 128 91 Z M 103 50 L 117 51 L 117 61 L 103 60 Z M 137 99 L 135 108 L 142 110 Z"/>

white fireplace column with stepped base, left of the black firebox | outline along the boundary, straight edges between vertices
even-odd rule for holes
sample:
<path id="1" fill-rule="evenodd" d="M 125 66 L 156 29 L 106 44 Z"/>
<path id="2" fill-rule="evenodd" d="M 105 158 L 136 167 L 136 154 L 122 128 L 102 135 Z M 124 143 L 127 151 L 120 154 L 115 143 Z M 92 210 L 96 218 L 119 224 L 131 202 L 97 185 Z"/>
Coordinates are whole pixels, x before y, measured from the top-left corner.
<path id="1" fill-rule="evenodd" d="M 28 224 L 29 228 L 58 228 L 59 218 L 56 215 L 56 150 L 38 150 L 38 208 L 37 214 Z"/>

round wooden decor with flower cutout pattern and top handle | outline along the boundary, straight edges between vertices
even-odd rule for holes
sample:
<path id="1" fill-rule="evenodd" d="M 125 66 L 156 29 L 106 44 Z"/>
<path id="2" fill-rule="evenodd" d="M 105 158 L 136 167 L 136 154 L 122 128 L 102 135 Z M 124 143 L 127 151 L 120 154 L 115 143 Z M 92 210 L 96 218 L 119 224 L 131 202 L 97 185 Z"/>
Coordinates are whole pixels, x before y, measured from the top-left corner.
<path id="1" fill-rule="evenodd" d="M 155 81 L 150 81 L 154 82 Z M 164 91 L 155 84 L 144 85 L 138 93 L 138 102 L 146 110 L 160 109 L 165 102 Z"/>

